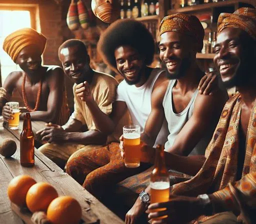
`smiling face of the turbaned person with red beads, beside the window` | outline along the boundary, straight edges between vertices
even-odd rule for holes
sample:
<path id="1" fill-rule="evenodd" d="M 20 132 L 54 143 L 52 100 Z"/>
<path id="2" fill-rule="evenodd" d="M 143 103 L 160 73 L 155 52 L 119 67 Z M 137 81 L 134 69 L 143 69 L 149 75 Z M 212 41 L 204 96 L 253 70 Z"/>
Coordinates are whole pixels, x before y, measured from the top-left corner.
<path id="1" fill-rule="evenodd" d="M 41 68 L 41 62 L 41 53 L 37 45 L 25 46 L 15 59 L 15 63 L 28 74 L 36 74 Z"/>

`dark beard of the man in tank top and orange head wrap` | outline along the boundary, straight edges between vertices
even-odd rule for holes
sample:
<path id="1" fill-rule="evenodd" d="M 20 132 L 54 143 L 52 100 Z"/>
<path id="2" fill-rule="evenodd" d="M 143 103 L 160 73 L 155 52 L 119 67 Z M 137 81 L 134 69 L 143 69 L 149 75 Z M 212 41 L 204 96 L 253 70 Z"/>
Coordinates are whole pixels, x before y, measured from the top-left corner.
<path id="1" fill-rule="evenodd" d="M 176 58 L 170 58 L 170 59 L 176 59 Z M 166 73 L 166 77 L 168 79 L 179 79 L 181 77 L 184 77 L 186 74 L 186 71 L 188 70 L 188 68 L 191 65 L 191 59 L 190 57 L 185 57 L 183 59 L 181 59 L 180 61 L 180 65 L 177 68 L 177 70 L 173 73 L 169 73 L 168 68 L 165 64 L 165 73 Z"/>

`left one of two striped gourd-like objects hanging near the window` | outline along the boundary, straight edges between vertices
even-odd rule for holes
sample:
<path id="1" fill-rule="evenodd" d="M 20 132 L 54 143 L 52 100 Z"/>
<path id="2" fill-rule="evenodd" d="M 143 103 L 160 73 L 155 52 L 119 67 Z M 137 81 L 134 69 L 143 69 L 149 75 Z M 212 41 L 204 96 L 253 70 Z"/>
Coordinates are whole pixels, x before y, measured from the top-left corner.
<path id="1" fill-rule="evenodd" d="M 77 12 L 77 4 L 74 0 L 71 0 L 71 3 L 68 7 L 66 15 L 66 24 L 70 30 L 76 30 L 80 26 Z"/>

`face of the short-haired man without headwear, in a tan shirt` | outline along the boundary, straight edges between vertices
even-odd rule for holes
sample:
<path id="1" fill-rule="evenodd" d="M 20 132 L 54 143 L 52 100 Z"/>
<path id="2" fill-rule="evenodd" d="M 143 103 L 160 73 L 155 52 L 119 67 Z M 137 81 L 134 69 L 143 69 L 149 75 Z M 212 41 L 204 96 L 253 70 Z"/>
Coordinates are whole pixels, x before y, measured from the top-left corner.
<path id="1" fill-rule="evenodd" d="M 60 50 L 59 59 L 65 74 L 76 84 L 90 80 L 89 56 L 79 46 L 64 47 Z"/>

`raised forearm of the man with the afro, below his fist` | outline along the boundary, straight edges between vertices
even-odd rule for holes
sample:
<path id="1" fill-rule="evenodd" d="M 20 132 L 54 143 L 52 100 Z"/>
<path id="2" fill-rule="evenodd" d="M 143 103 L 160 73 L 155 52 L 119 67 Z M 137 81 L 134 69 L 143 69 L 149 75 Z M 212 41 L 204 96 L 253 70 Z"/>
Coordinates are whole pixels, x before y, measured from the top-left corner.
<path id="1" fill-rule="evenodd" d="M 111 134 L 114 131 L 114 123 L 111 118 L 98 107 L 94 100 L 86 102 L 86 105 L 97 128 L 105 134 Z"/>

